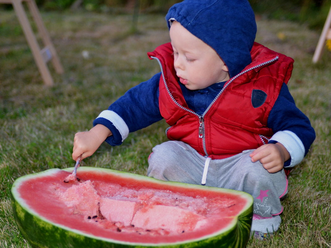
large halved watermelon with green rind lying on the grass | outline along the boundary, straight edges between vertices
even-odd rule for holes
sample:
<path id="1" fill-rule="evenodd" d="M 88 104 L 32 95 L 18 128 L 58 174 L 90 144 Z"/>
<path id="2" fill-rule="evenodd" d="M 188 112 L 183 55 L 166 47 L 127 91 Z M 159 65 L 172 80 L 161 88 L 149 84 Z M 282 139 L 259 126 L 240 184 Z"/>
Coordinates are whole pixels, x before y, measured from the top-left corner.
<path id="1" fill-rule="evenodd" d="M 18 178 L 14 215 L 33 247 L 245 247 L 253 199 L 201 185 L 81 167 Z"/>

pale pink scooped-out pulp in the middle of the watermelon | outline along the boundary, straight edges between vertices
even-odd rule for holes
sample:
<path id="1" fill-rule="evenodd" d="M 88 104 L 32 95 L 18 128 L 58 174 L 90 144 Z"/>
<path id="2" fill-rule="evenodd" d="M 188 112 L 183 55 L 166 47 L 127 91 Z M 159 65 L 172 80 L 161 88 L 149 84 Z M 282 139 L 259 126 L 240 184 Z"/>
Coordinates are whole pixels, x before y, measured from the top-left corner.
<path id="1" fill-rule="evenodd" d="M 60 193 L 60 199 L 68 206 L 73 208 L 74 214 L 81 214 L 87 217 L 96 219 L 100 211 L 100 218 L 107 219 L 110 222 L 117 223 L 118 227 L 134 226 L 144 228 L 146 230 L 165 229 L 169 232 L 181 233 L 191 231 L 197 223 L 201 226 L 201 220 L 206 219 L 205 216 L 195 212 L 205 210 L 206 204 L 199 200 L 193 200 L 192 197 L 183 197 L 174 195 L 172 192 L 155 192 L 155 190 L 132 190 L 122 188 L 118 194 L 118 187 L 112 187 L 112 184 L 107 185 L 109 188 L 108 194 L 115 195 L 110 197 L 100 197 L 97 194 L 90 180 L 72 185 L 63 193 Z M 114 192 L 116 188 L 116 192 Z M 61 192 L 61 189 L 59 190 Z M 123 195 L 135 196 L 126 198 Z M 161 196 L 162 195 L 162 196 Z M 139 203 L 139 199 L 143 200 L 146 205 Z M 156 199 L 155 199 L 156 198 Z M 169 198 L 176 199 L 174 203 L 168 202 Z M 151 199 L 149 201 L 149 199 Z M 190 211 L 182 209 L 177 203 L 184 205 L 185 208 L 192 204 L 195 210 Z M 167 206 L 165 204 L 173 204 L 175 206 Z M 99 206 L 99 209 L 98 209 Z M 93 216 L 93 217 L 91 217 Z"/>

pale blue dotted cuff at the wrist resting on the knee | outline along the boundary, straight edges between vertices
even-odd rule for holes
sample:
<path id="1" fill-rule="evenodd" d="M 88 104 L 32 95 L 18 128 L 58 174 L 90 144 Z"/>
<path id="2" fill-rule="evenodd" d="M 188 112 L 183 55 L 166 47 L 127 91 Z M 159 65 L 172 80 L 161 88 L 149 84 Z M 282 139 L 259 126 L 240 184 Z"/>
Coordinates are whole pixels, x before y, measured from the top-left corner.
<path id="1" fill-rule="evenodd" d="M 281 143 L 290 153 L 291 164 L 288 167 L 293 167 L 299 164 L 305 157 L 305 147 L 299 137 L 291 131 L 276 132 L 270 140 L 275 140 Z"/>

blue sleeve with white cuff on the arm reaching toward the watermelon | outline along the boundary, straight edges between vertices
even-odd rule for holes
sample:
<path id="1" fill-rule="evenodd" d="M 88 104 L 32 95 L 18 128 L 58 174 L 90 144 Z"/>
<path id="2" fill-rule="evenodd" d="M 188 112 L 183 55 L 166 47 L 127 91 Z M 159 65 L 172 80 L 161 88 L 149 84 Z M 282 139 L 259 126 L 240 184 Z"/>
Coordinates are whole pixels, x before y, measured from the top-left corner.
<path id="1" fill-rule="evenodd" d="M 147 127 L 162 119 L 159 109 L 159 80 L 161 73 L 148 81 L 129 89 L 100 113 L 93 125 L 107 126 L 112 136 L 106 139 L 110 145 L 120 145 L 129 132 Z"/>

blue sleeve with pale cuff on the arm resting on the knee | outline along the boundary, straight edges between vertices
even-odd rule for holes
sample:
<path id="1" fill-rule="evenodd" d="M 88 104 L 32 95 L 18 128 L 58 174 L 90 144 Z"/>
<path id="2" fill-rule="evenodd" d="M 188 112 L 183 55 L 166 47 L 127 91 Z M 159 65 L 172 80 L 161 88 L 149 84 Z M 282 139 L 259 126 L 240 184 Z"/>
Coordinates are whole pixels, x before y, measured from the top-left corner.
<path id="1" fill-rule="evenodd" d="M 315 139 L 309 119 L 297 108 L 285 83 L 270 111 L 268 127 L 274 132 L 269 143 L 281 142 L 290 152 L 291 159 L 285 163 L 285 167 L 301 162 Z"/>

